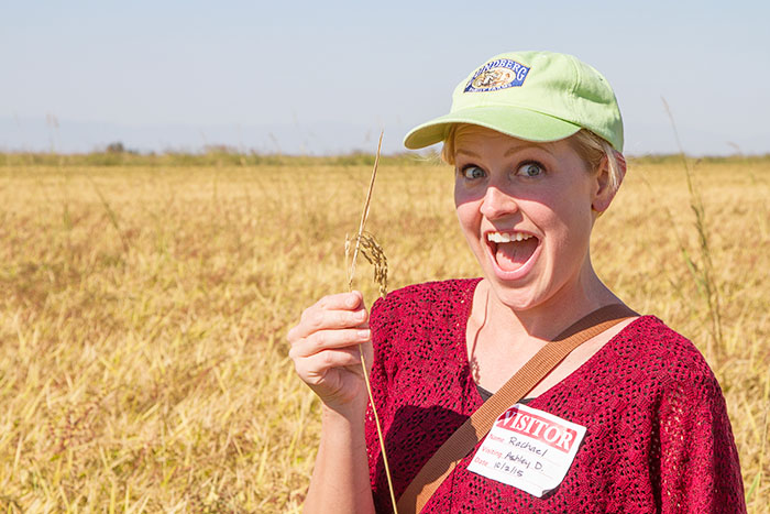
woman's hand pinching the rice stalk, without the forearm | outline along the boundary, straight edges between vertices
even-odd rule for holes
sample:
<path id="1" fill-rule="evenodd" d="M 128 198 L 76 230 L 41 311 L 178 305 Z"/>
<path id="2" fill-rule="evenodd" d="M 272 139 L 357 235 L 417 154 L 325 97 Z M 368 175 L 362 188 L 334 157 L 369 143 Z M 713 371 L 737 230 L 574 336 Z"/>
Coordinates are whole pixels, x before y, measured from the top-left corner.
<path id="1" fill-rule="evenodd" d="M 360 292 L 324 296 L 288 332 L 289 357 L 306 384 L 334 411 L 361 414 L 367 396 L 359 345 L 372 367 L 369 313 Z"/>

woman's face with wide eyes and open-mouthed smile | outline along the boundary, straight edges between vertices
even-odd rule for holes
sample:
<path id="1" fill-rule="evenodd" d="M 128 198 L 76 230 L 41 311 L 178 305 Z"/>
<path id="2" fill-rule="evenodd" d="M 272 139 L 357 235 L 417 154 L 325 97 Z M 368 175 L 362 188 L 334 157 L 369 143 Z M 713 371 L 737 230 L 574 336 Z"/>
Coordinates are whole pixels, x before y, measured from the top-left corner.
<path id="1" fill-rule="evenodd" d="M 534 143 L 476 125 L 458 129 L 454 152 L 460 226 L 497 297 L 526 310 L 580 294 L 597 174 L 565 140 Z"/>

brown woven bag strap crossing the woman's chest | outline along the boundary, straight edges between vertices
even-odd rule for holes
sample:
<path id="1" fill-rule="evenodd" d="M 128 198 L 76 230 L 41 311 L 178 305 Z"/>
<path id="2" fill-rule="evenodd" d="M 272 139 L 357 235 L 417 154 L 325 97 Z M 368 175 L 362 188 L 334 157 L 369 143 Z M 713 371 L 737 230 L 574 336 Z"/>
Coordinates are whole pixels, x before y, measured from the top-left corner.
<path id="1" fill-rule="evenodd" d="M 514 373 L 499 391 L 484 402 L 422 466 L 398 499 L 398 513 L 420 512 L 458 463 L 492 429 L 492 425 L 501 414 L 521 400 L 581 343 L 632 316 L 638 315 L 625 305 L 607 305 L 578 320 L 542 347 L 535 357 Z"/>

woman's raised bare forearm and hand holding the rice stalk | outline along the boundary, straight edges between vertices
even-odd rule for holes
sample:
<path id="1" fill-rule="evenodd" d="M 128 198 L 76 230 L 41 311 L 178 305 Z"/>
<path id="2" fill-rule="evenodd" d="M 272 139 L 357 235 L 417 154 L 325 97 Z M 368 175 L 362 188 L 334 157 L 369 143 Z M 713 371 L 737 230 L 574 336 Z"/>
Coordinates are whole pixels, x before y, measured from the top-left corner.
<path id="1" fill-rule="evenodd" d="M 359 345 L 372 367 L 369 313 L 359 292 L 324 296 L 288 332 L 297 374 L 321 398 L 321 441 L 306 513 L 374 513 L 364 438 L 369 397 Z"/>

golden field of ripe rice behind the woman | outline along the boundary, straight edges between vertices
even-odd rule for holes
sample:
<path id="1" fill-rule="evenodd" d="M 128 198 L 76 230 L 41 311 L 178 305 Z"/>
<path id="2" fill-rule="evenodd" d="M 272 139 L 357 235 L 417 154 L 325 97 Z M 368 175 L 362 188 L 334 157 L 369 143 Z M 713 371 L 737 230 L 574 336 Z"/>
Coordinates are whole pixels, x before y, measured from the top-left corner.
<path id="1" fill-rule="evenodd" d="M 345 289 L 371 162 L 0 155 L 0 511 L 297 511 L 319 405 L 285 335 Z M 681 161 L 631 161 L 594 264 L 706 353 L 770 513 L 770 158 L 690 164 L 704 225 Z M 444 165 L 385 158 L 369 229 L 391 288 L 479 273 Z"/>

